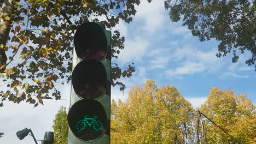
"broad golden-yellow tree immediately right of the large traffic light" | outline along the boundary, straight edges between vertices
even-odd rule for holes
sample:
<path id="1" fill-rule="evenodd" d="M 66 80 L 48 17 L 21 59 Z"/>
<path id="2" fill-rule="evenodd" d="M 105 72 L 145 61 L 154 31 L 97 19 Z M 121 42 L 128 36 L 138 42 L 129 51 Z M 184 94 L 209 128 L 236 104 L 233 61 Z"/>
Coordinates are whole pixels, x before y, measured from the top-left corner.
<path id="1" fill-rule="evenodd" d="M 183 142 L 182 125 L 191 126 L 193 108 L 167 85 L 156 89 L 153 80 L 133 86 L 129 98 L 111 105 L 111 143 Z"/>

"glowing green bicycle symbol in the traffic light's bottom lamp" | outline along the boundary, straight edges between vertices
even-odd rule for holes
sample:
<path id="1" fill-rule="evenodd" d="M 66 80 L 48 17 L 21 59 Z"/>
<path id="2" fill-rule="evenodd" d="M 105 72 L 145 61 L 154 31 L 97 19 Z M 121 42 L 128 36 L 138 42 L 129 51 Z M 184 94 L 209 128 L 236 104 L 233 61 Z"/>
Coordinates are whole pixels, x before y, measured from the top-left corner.
<path id="1" fill-rule="evenodd" d="M 85 115 L 82 121 L 79 121 L 77 122 L 77 124 L 75 124 L 75 128 L 77 130 L 84 130 L 86 128 L 86 124 L 88 124 L 89 127 L 92 126 L 92 128 L 94 128 L 97 131 L 100 131 L 103 129 L 102 122 L 96 120 L 97 116 L 94 116 L 94 118 L 88 118 L 87 116 L 89 115 Z M 92 121 L 89 123 L 87 120 L 92 120 Z"/>

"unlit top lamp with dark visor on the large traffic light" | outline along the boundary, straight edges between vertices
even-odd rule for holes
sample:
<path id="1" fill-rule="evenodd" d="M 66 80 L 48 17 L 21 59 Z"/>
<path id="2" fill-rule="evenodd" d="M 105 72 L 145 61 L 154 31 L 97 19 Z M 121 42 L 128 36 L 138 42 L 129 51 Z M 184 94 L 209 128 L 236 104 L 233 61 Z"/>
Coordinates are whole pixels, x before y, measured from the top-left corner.
<path id="1" fill-rule="evenodd" d="M 86 22 L 79 26 L 74 35 L 74 46 L 81 59 L 101 60 L 108 52 L 104 29 L 95 22 Z"/>

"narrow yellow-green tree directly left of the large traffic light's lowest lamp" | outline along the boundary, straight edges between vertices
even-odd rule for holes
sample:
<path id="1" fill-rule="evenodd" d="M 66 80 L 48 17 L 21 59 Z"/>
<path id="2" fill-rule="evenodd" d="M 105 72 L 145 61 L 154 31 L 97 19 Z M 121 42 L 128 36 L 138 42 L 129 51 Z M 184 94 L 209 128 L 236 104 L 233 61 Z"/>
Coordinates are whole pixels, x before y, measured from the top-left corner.
<path id="1" fill-rule="evenodd" d="M 54 124 L 54 144 L 67 144 L 68 122 L 66 107 L 61 106 L 55 115 Z"/>

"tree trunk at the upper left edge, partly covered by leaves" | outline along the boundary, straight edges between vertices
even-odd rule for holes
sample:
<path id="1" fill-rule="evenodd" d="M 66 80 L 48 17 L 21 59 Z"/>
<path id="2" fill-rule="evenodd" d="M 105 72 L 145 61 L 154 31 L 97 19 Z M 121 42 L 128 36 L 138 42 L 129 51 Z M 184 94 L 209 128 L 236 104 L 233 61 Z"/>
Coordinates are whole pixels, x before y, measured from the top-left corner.
<path id="1" fill-rule="evenodd" d="M 2 9 L 1 9 L 1 16 L 9 16 L 14 13 L 14 0 L 4 0 Z M 10 33 L 11 28 L 11 21 L 0 19 L 0 73 L 3 73 L 5 67 L 1 69 L 3 65 L 7 62 L 7 56 L 5 54 L 4 47 L 7 43 L 8 36 Z"/>

